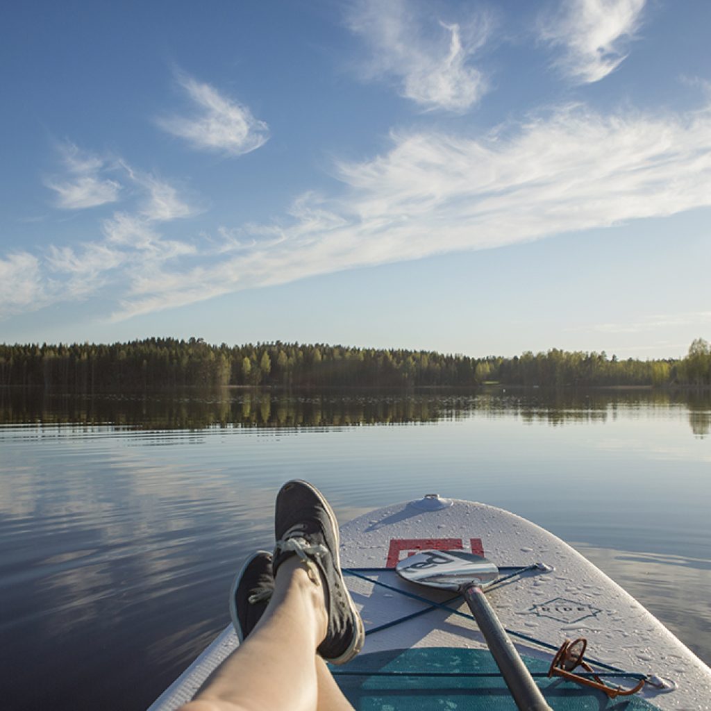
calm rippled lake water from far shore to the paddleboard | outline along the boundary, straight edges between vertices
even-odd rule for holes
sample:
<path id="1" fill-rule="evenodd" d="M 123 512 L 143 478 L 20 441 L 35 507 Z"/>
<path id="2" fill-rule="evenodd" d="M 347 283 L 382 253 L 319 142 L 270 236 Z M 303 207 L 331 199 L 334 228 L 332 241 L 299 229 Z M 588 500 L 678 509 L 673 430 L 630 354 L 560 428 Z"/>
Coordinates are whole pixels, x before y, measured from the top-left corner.
<path id="1" fill-rule="evenodd" d="M 572 543 L 711 662 L 711 396 L 62 397 L 0 389 L 6 708 L 142 709 L 228 624 L 279 486 L 346 521 L 424 493 Z"/>

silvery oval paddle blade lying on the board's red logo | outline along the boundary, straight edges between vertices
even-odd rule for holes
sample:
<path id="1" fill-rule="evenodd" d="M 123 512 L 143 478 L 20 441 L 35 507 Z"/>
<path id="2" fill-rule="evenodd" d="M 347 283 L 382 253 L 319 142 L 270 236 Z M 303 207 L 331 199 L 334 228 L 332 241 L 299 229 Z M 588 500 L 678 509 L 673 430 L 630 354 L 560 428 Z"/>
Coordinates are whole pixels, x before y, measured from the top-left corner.
<path id="1" fill-rule="evenodd" d="M 486 587 L 498 578 L 498 568 L 491 561 L 454 550 L 423 550 L 401 560 L 395 570 L 405 580 L 444 590 Z"/>

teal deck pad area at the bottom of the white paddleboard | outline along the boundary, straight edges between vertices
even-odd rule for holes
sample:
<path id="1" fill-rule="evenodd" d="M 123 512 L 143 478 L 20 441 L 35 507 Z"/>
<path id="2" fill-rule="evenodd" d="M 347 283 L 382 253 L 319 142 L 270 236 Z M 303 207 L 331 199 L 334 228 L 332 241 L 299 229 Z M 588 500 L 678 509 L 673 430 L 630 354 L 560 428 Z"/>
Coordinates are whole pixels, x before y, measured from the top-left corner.
<path id="1" fill-rule="evenodd" d="M 601 691 L 547 678 L 548 663 L 523 657 L 555 711 L 641 711 L 658 707 L 634 696 L 609 699 Z M 362 654 L 331 667 L 357 711 L 515 711 L 491 654 L 483 649 L 429 647 Z M 629 685 L 631 680 L 615 679 Z"/>

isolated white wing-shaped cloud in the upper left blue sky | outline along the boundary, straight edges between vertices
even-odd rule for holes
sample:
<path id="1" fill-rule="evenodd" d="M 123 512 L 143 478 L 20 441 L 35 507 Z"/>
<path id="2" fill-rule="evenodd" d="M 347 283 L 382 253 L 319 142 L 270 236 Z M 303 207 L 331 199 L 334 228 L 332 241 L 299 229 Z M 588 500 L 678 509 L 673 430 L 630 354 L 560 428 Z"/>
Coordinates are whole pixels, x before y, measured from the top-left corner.
<path id="1" fill-rule="evenodd" d="M 197 149 L 221 151 L 241 156 L 254 151 L 269 139 L 269 127 L 252 112 L 221 95 L 215 87 L 189 77 L 178 77 L 181 87 L 196 107 L 193 117 L 159 119 L 165 131 L 185 139 Z"/>

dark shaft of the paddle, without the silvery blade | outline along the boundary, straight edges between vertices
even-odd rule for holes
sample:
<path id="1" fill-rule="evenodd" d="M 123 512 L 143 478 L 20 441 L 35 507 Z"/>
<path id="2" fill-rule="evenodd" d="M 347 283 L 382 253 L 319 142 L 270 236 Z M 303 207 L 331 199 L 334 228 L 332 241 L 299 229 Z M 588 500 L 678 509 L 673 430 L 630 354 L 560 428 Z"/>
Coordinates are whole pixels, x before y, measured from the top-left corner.
<path id="1" fill-rule="evenodd" d="M 480 587 L 462 591 L 519 711 L 552 711 Z"/>

